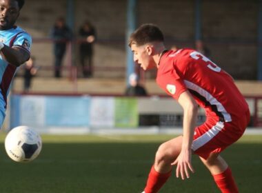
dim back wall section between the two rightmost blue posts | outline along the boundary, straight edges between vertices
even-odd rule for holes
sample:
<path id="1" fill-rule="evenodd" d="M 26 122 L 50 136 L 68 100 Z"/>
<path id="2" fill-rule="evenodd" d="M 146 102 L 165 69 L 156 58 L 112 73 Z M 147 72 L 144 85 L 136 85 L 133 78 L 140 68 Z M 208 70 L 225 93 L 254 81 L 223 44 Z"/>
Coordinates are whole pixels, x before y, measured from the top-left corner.
<path id="1" fill-rule="evenodd" d="M 203 38 L 235 79 L 256 79 L 258 1 L 203 1 Z"/>

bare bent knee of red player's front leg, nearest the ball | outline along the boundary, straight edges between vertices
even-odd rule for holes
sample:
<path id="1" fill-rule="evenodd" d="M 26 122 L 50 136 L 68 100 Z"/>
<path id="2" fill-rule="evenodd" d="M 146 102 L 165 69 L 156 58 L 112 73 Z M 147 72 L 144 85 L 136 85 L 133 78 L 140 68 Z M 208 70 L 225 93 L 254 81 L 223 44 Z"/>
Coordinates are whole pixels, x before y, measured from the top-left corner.
<path id="1" fill-rule="evenodd" d="M 159 149 L 156 153 L 155 163 L 166 163 L 170 164 L 174 161 L 174 157 L 172 156 L 172 150 L 168 147 L 167 144 L 163 143 L 159 146 Z"/>

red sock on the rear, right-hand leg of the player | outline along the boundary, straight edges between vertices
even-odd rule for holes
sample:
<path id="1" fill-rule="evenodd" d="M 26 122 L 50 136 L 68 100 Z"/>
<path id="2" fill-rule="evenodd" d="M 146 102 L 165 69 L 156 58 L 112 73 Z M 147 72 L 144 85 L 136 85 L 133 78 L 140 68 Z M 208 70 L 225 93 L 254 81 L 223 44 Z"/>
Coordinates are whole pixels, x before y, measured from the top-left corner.
<path id="1" fill-rule="evenodd" d="M 221 174 L 213 175 L 216 185 L 222 193 L 238 193 L 230 167 Z"/>

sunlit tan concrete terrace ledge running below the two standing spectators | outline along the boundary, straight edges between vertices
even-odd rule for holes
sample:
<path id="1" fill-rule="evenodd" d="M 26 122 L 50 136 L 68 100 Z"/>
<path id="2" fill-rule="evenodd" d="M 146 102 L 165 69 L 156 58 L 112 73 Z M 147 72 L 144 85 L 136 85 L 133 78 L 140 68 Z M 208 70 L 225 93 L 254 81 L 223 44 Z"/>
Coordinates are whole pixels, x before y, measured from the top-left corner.
<path id="1" fill-rule="evenodd" d="M 245 96 L 262 96 L 262 82 L 236 81 L 236 85 Z M 71 81 L 68 78 L 35 77 L 32 80 L 31 92 L 121 95 L 125 90 L 125 86 L 125 79 L 92 78 Z M 146 80 L 145 88 L 151 95 L 165 95 L 165 92 L 158 87 L 154 79 Z M 23 78 L 17 77 L 14 79 L 12 90 L 14 92 L 23 92 Z"/>

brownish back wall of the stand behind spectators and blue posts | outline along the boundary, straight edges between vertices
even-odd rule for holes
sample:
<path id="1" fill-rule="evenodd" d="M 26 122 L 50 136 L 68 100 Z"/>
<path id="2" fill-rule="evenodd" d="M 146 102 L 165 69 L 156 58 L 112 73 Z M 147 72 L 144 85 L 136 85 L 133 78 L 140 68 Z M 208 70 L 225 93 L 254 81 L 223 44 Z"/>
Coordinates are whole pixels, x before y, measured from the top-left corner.
<path id="1" fill-rule="evenodd" d="M 138 0 L 138 24 L 156 23 L 168 48 L 194 47 L 194 0 Z M 75 0 L 74 32 L 89 19 L 97 28 L 95 77 L 125 76 L 125 26 L 127 0 Z M 212 60 L 236 79 L 256 79 L 258 1 L 202 1 L 203 40 Z M 66 16 L 66 0 L 27 0 L 17 24 L 34 37 L 32 54 L 37 63 L 52 67 L 52 43 L 48 37 L 54 20 Z M 74 63 L 78 65 L 77 47 Z M 65 65 L 68 65 L 68 58 Z M 44 68 L 39 75 L 51 76 Z"/>

